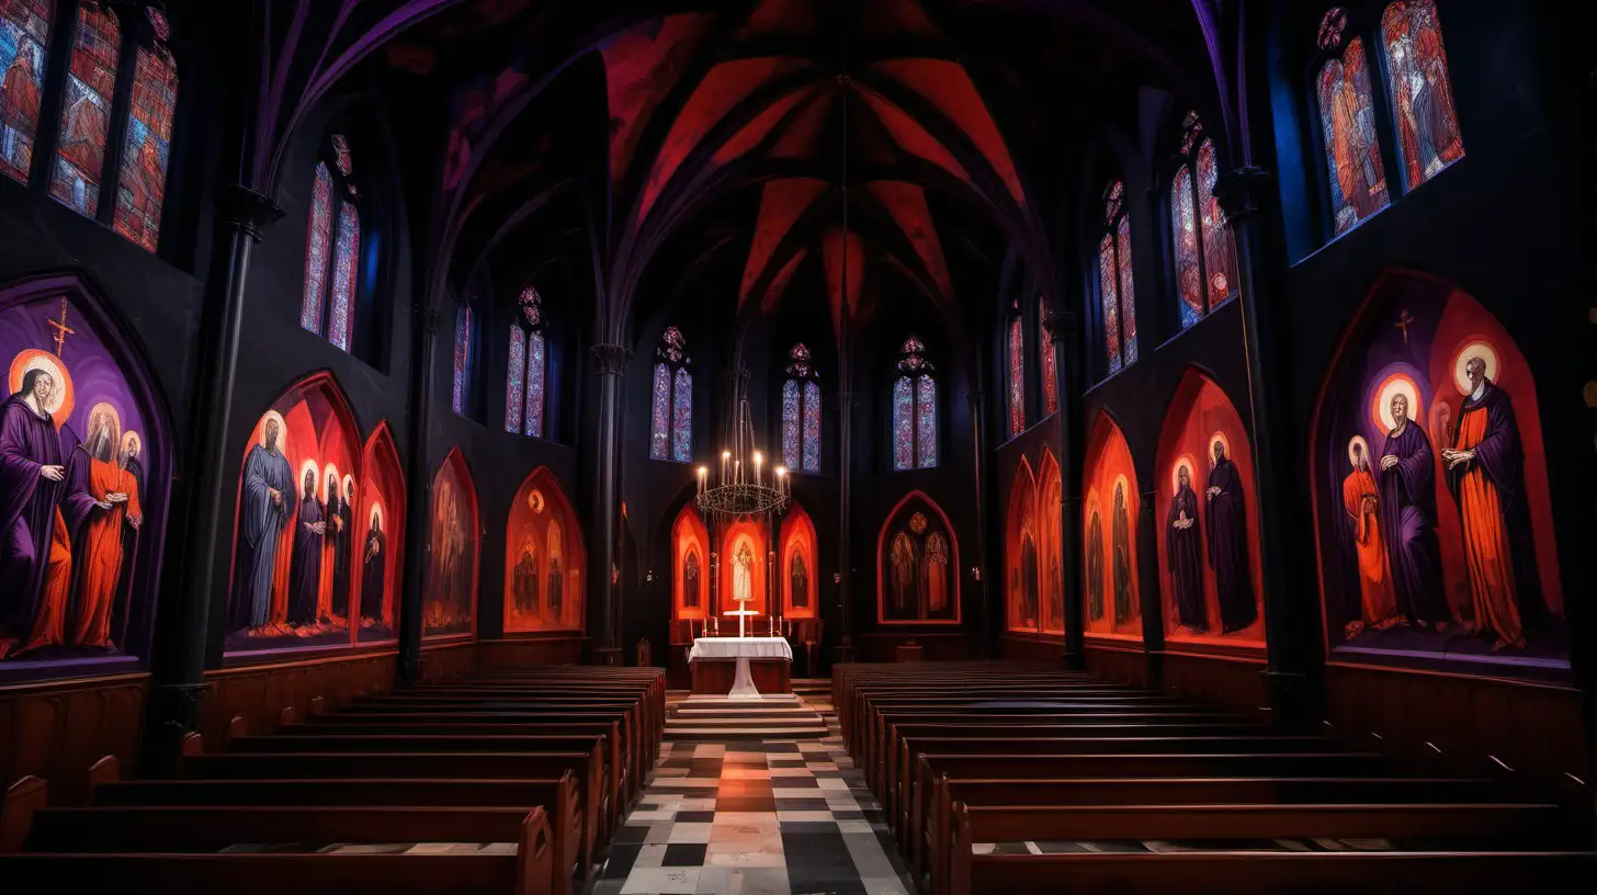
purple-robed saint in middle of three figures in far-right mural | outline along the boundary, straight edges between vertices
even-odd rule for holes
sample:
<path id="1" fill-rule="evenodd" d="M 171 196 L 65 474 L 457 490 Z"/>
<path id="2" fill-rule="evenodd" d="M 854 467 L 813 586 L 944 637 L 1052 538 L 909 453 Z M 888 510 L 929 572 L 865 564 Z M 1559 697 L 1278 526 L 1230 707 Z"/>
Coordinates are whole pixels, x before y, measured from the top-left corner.
<path id="1" fill-rule="evenodd" d="M 1442 548 L 1436 540 L 1436 455 L 1425 430 L 1409 419 L 1409 396 L 1393 395 L 1393 425 L 1381 443 L 1375 473 L 1375 515 L 1386 539 L 1397 615 L 1410 625 L 1453 620 L 1442 585 Z"/>

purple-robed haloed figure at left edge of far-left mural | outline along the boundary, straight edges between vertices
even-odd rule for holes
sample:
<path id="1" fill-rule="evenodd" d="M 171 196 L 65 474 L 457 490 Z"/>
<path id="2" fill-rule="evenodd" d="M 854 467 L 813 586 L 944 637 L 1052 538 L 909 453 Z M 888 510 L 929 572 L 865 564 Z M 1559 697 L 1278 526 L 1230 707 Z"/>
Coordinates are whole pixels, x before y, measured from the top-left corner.
<path id="1" fill-rule="evenodd" d="M 26 639 L 65 491 L 61 435 L 45 409 L 56 377 L 30 369 L 0 408 L 0 626 Z"/>

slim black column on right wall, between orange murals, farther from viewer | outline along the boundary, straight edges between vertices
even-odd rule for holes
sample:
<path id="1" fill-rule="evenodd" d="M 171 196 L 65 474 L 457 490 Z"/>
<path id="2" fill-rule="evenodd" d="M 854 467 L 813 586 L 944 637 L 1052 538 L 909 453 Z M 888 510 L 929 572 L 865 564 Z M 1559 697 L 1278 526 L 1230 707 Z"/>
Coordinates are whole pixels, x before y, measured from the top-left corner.
<path id="1" fill-rule="evenodd" d="M 1081 463 L 1076 457 L 1075 414 L 1081 401 L 1075 400 L 1080 371 L 1072 368 L 1072 358 L 1080 356 L 1076 344 L 1076 315 L 1072 312 L 1052 312 L 1043 318 L 1043 326 L 1054 337 L 1054 369 L 1059 384 L 1059 411 L 1054 414 L 1054 425 L 1059 428 L 1059 561 L 1065 566 L 1060 580 L 1065 588 L 1065 652 L 1062 655 L 1065 668 L 1081 671 L 1086 668 L 1086 652 L 1083 650 L 1083 634 L 1086 614 L 1081 604 L 1081 537 L 1076 532 L 1076 519 L 1081 513 Z"/>

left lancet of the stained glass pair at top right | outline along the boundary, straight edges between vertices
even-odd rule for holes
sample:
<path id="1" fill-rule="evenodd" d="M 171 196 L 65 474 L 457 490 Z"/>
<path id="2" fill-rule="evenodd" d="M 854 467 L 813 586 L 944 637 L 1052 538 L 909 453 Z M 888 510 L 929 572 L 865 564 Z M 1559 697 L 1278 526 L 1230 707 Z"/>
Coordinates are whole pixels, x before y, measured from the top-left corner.
<path id="1" fill-rule="evenodd" d="M 1346 233 L 1386 206 L 1386 171 L 1375 134 L 1375 104 L 1364 42 L 1348 42 L 1340 59 L 1319 70 L 1319 123 L 1326 139 L 1330 219 Z"/>

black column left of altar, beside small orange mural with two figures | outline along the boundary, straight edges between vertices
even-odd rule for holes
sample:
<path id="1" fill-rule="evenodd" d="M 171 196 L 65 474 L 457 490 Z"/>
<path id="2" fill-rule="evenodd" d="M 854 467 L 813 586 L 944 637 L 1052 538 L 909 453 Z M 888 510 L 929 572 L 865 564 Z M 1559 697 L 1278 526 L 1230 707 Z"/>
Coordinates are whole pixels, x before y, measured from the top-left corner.
<path id="1" fill-rule="evenodd" d="M 621 647 L 616 630 L 621 607 L 616 603 L 616 532 L 621 524 L 621 374 L 632 352 L 624 345 L 594 345 L 594 372 L 599 374 L 599 432 L 594 438 L 594 507 L 596 529 L 588 558 L 588 658 L 594 665 L 620 665 Z M 597 585 L 597 588 L 594 587 Z"/>

